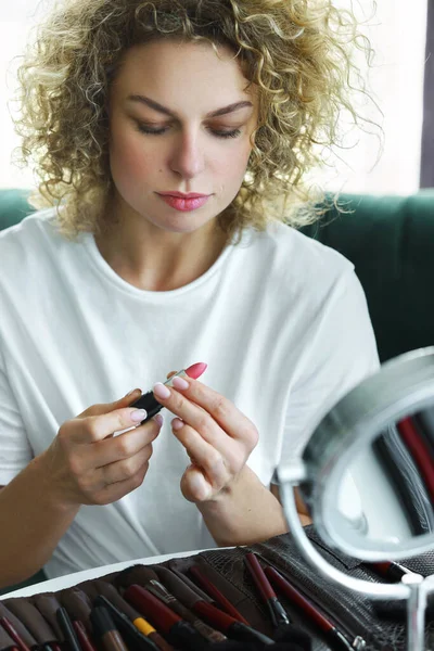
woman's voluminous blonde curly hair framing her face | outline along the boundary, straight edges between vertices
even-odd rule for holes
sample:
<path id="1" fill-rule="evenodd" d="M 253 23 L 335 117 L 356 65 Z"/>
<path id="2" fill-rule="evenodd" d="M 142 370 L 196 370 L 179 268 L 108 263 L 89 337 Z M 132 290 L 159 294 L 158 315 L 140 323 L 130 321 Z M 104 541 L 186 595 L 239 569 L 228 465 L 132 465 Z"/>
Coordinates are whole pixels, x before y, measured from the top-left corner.
<path id="1" fill-rule="evenodd" d="M 366 93 L 352 52 L 370 43 L 353 12 L 331 0 L 64 0 L 29 41 L 17 75 L 15 130 L 24 165 L 39 178 L 29 202 L 58 206 L 66 237 L 97 232 L 113 191 L 107 98 L 126 51 L 153 39 L 229 47 L 256 86 L 258 124 L 235 199 L 218 216 L 232 237 L 270 220 L 291 226 L 323 212 L 305 187 L 319 148 L 340 143 L 344 110 L 360 116 L 353 90 Z M 321 195 L 321 199 L 323 196 Z M 304 207 L 302 207 L 304 206 Z"/>

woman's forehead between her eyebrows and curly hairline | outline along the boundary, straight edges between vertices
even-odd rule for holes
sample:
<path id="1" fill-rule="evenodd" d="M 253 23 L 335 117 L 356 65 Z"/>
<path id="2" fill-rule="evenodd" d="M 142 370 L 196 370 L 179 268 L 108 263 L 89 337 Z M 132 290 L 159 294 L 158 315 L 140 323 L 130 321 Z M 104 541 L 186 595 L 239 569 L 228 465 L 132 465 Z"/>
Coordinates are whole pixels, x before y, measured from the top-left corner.
<path id="1" fill-rule="evenodd" d="M 112 97 L 143 91 L 156 93 L 161 101 L 176 100 L 177 104 L 189 97 L 213 100 L 213 106 L 222 105 L 225 100 L 253 102 L 254 88 L 247 89 L 248 81 L 234 53 L 221 44 L 217 51 L 208 42 L 173 39 L 135 46 L 123 58 Z"/>

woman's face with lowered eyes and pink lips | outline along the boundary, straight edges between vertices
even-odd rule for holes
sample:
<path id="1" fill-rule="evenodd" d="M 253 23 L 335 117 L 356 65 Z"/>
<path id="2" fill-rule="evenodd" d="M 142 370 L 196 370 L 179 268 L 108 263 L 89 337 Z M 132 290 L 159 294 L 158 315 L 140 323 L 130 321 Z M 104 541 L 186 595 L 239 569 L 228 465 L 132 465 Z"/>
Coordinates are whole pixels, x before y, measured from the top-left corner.
<path id="1" fill-rule="evenodd" d="M 256 101 L 243 90 L 246 79 L 232 53 L 218 50 L 221 59 L 209 43 L 133 47 L 111 88 L 117 204 L 165 231 L 188 233 L 210 222 L 234 199 L 245 174 Z M 168 192 L 208 200 L 183 212 L 162 199 Z"/>

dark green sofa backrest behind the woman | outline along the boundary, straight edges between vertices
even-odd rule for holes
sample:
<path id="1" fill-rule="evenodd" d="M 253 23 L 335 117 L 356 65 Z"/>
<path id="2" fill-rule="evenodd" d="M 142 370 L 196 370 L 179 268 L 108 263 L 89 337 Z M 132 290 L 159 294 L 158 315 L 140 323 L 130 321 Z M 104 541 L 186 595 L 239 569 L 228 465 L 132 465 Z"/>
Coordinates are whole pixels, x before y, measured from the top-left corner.
<path id="1" fill-rule="evenodd" d="M 34 210 L 27 194 L 0 190 L 0 230 Z M 434 344 L 434 189 L 405 197 L 347 194 L 341 201 L 347 213 L 332 209 L 302 230 L 354 263 L 381 360 Z M 21 585 L 36 580 L 43 574 Z"/>

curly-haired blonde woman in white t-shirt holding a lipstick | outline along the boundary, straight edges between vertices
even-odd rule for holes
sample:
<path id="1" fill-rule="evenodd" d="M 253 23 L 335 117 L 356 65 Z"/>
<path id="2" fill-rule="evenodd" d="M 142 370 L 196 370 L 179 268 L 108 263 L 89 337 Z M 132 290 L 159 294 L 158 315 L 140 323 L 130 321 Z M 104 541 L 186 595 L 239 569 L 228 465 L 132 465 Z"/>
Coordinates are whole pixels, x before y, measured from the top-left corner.
<path id="1" fill-rule="evenodd" d="M 275 468 L 378 366 L 353 265 L 291 228 L 350 108 L 348 29 L 288 0 L 67 0 L 40 27 L 17 127 L 56 207 L 0 238 L 3 585 L 286 531 Z M 128 390 L 199 361 L 131 430 Z"/>

